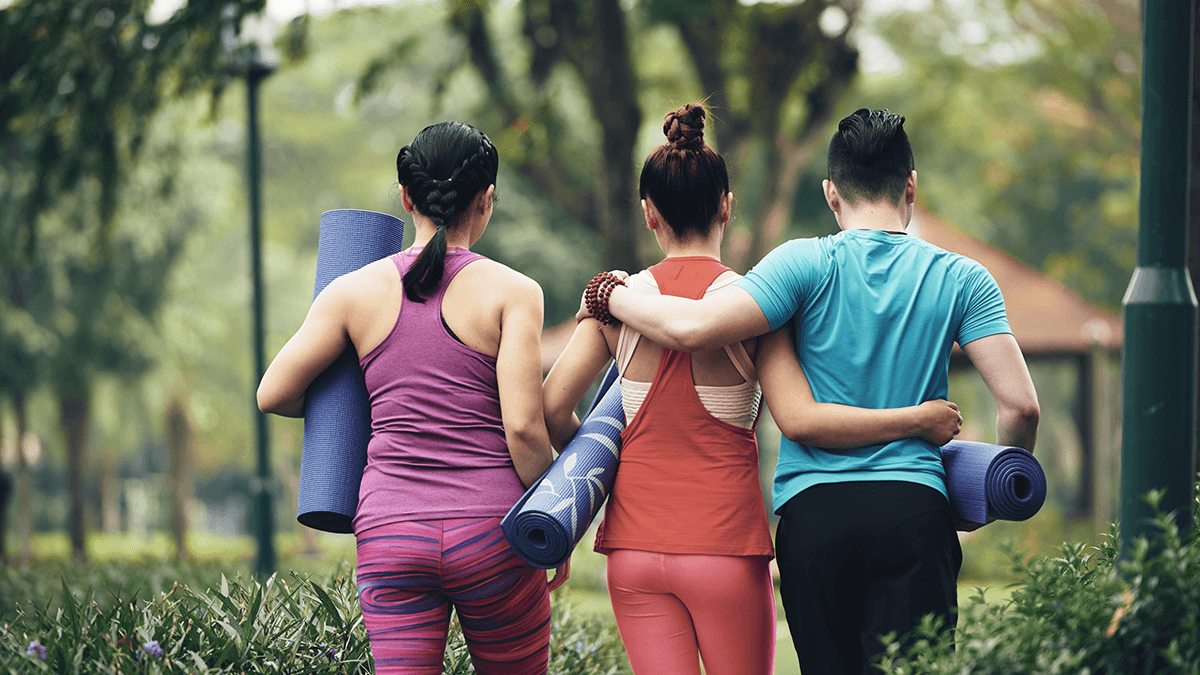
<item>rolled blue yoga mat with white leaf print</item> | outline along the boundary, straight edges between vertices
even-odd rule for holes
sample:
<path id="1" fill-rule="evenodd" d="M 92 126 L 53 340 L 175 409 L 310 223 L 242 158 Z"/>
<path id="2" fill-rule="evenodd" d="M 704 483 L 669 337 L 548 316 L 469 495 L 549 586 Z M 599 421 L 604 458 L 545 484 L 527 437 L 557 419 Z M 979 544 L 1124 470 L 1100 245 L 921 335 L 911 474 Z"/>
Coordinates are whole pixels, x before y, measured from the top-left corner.
<path id="1" fill-rule="evenodd" d="M 592 411 L 546 473 L 500 521 L 500 530 L 522 560 L 551 569 L 566 562 L 600 512 L 620 456 L 625 410 L 620 387 L 608 371 Z"/>

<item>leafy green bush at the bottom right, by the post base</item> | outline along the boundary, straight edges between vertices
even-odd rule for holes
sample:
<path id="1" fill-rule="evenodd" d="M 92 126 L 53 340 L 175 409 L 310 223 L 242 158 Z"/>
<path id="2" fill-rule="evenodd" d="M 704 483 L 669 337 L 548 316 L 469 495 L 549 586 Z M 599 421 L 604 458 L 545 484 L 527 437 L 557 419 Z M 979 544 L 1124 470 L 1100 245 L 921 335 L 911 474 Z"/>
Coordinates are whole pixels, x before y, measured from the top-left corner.
<path id="1" fill-rule="evenodd" d="M 1147 500 L 1158 507 L 1160 495 Z M 1007 603 L 983 591 L 961 608 L 954 632 L 926 620 L 892 638 L 890 675 L 1200 673 L 1200 519 L 1181 533 L 1159 513 L 1159 534 L 1120 560 L 1114 526 L 1099 546 L 1067 543 L 1054 557 L 1013 555 L 1019 581 Z"/>

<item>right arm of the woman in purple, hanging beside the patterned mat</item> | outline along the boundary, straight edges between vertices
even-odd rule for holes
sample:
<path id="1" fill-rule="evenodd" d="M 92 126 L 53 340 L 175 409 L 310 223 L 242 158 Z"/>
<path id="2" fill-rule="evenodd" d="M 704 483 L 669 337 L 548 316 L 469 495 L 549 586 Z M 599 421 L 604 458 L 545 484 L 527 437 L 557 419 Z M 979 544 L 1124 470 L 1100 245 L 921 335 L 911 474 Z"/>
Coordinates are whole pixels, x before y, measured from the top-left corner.
<path id="1" fill-rule="evenodd" d="M 529 488 L 553 459 L 541 412 L 541 287 L 517 275 L 500 316 L 496 380 L 512 465 Z"/>

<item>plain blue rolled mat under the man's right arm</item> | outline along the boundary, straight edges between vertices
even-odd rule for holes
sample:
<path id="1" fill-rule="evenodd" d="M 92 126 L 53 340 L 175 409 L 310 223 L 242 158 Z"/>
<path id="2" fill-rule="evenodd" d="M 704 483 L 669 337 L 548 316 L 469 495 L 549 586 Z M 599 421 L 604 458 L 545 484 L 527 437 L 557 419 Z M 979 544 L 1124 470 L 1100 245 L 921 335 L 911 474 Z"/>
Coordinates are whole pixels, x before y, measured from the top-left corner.
<path id="1" fill-rule="evenodd" d="M 960 531 L 994 520 L 1026 520 L 1045 502 L 1046 474 L 1026 449 L 950 441 L 942 447 L 942 465 Z"/>

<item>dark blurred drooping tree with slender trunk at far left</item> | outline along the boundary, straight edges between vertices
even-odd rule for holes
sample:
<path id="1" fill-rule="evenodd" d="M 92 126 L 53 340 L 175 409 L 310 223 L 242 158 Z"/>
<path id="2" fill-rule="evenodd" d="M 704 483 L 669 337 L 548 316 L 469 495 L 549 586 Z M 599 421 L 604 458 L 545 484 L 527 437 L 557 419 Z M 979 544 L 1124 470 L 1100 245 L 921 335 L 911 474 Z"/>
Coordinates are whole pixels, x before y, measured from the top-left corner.
<path id="1" fill-rule="evenodd" d="M 0 387 L 16 406 L 46 387 L 58 402 L 67 467 L 67 530 L 73 556 L 84 546 L 83 479 L 95 378 L 136 380 L 149 370 L 144 347 L 163 299 L 187 219 L 138 231 L 118 222 L 161 211 L 187 161 L 155 148 L 154 198 L 130 185 L 150 123 L 173 100 L 216 90 L 227 79 L 233 31 L 264 0 L 190 2 L 152 24 L 145 1 L 16 2 L 0 24 L 0 348 L 12 370 Z M 10 328 L 13 327 L 13 328 Z M 11 352 L 10 352 L 11 347 Z M 7 364 L 6 364 L 7 365 Z M 24 485 L 24 462 L 18 483 Z M 28 492 L 22 491 L 24 497 Z M 23 546 L 24 548 L 24 546 Z"/>

